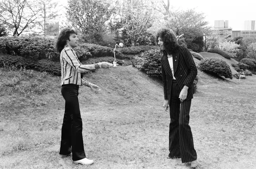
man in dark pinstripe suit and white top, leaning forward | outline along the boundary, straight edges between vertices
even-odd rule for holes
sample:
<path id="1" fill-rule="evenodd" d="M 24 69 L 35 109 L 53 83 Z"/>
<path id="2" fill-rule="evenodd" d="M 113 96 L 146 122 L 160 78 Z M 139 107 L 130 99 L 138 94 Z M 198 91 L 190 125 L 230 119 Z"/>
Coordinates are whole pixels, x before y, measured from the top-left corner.
<path id="1" fill-rule="evenodd" d="M 181 158 L 183 163 L 197 166 L 197 153 L 189 126 L 189 111 L 194 94 L 193 81 L 197 68 L 190 51 L 177 44 L 175 34 L 170 29 L 157 32 L 156 41 L 163 55 L 161 70 L 164 86 L 165 110 L 170 106 L 170 129 L 168 158 Z"/>

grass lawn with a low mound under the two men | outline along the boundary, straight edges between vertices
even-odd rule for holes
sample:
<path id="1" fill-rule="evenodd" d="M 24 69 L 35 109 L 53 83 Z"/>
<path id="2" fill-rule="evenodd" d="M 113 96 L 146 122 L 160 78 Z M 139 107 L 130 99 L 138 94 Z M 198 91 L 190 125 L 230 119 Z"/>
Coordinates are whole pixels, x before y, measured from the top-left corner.
<path id="1" fill-rule="evenodd" d="M 91 166 L 61 158 L 60 77 L 0 68 L 0 169 L 187 169 L 168 156 L 169 112 L 161 82 L 131 66 L 88 73 L 80 87 Z M 15 84 L 15 85 L 14 85 Z M 33 85 L 34 84 L 34 85 Z M 256 76 L 222 80 L 199 71 L 190 111 L 197 169 L 255 169 Z"/>

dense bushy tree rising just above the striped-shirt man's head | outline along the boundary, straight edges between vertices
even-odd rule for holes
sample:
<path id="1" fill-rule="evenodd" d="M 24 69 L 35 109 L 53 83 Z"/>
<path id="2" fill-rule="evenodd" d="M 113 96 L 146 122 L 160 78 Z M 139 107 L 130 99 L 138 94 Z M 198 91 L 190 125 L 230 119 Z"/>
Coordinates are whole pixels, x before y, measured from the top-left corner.
<path id="1" fill-rule="evenodd" d="M 67 20 L 82 34 L 97 34 L 114 12 L 111 2 L 101 0 L 68 0 Z"/>

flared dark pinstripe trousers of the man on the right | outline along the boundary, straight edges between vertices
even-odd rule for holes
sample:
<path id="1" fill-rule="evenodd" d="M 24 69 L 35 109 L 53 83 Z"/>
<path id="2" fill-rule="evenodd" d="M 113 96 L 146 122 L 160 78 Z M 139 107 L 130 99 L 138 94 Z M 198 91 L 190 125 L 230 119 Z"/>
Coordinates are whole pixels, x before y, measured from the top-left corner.
<path id="1" fill-rule="evenodd" d="M 171 85 L 169 157 L 180 158 L 182 162 L 197 159 L 192 131 L 189 126 L 191 100 L 180 102 L 180 89 L 176 80 Z"/>

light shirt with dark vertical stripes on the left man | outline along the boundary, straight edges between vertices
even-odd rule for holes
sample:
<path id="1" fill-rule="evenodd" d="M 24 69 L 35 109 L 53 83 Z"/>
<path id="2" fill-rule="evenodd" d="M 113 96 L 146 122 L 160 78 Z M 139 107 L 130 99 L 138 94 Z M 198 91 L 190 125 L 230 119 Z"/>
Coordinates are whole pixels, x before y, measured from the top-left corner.
<path id="1" fill-rule="evenodd" d="M 61 51 L 61 85 L 83 85 L 81 73 L 96 70 L 95 65 L 82 65 L 76 56 L 76 52 L 69 46 Z M 83 79 L 84 81 L 85 79 Z M 86 80 L 85 80 L 86 81 Z"/>

